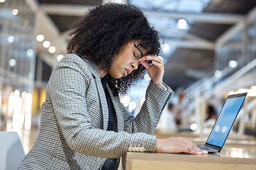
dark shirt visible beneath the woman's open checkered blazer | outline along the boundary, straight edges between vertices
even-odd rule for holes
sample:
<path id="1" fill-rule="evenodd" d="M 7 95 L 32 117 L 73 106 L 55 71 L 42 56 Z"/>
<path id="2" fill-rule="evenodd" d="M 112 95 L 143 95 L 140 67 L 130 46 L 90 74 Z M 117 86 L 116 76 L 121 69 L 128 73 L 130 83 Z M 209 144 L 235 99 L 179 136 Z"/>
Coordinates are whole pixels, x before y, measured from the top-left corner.
<path id="1" fill-rule="evenodd" d="M 117 115 L 114 111 L 114 106 L 110 98 L 110 93 L 107 91 L 107 81 L 103 78 L 101 79 L 103 89 L 105 91 L 105 96 L 107 99 L 107 108 L 109 111 L 109 121 L 107 123 L 107 130 L 112 130 L 114 132 L 117 132 Z"/>

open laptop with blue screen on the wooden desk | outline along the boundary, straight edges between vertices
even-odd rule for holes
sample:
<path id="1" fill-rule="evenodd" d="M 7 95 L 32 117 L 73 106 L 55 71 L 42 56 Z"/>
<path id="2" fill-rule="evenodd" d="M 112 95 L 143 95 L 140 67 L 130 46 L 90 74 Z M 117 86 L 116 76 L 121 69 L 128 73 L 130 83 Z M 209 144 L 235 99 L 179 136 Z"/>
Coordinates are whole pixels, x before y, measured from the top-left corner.
<path id="1" fill-rule="evenodd" d="M 245 101 L 247 93 L 230 95 L 225 99 L 218 118 L 208 136 L 205 145 L 197 147 L 206 150 L 208 153 L 220 152 L 228 134 L 237 118 L 242 103 Z"/>

